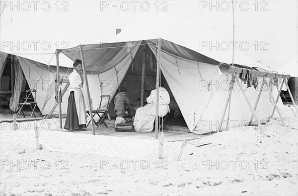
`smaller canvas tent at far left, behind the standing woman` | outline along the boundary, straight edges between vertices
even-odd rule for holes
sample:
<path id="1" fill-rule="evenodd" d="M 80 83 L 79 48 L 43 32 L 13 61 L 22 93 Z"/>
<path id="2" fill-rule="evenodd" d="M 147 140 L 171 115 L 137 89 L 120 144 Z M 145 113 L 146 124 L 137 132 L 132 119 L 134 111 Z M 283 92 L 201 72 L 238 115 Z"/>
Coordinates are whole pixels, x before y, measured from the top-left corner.
<path id="1" fill-rule="evenodd" d="M 69 70 L 69 73 L 71 71 Z M 60 72 L 62 76 L 66 75 L 68 68 L 60 67 Z M 21 94 L 27 89 L 37 91 L 35 101 L 42 115 L 49 114 L 55 105 L 56 66 L 0 52 L 0 76 L 0 98 L 9 102 L 11 111 L 18 110 Z M 63 101 L 66 102 L 66 106 L 63 104 L 65 108 L 67 100 L 64 98 Z M 58 109 L 54 111 L 55 113 L 58 114 Z"/>

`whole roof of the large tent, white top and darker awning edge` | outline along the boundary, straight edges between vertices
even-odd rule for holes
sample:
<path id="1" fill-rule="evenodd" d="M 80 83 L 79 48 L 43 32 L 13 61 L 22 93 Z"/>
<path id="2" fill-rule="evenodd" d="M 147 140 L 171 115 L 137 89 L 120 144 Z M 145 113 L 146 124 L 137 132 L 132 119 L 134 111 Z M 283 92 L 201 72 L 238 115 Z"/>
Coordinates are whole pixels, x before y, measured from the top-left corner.
<path id="1" fill-rule="evenodd" d="M 115 47 L 115 45 L 124 46 L 128 41 L 137 43 L 145 40 L 147 43 L 154 43 L 157 42 L 159 37 L 162 39 L 162 49 L 167 50 L 172 55 L 213 65 L 218 65 L 219 62 L 232 64 L 231 40 L 224 40 L 214 30 L 174 18 L 173 16 L 152 18 L 143 15 L 131 25 L 122 28 L 121 33 L 109 40 L 101 41 L 101 44 L 84 45 L 83 48 L 89 49 L 105 48 L 100 52 L 96 50 L 96 55 L 95 51 L 92 52 L 92 55 L 88 55 L 88 58 L 92 56 L 93 60 L 86 62 L 87 70 L 100 70 L 98 67 L 90 66 L 94 65 L 95 62 L 99 63 L 99 65 L 105 64 L 111 56 L 117 53 L 117 49 L 113 49 L 113 52 L 108 52 L 108 49 L 106 49 L 108 47 Z M 226 43 L 228 45 L 224 45 Z M 61 51 L 73 59 L 73 55 L 67 53 L 74 53 L 76 50 L 77 47 L 62 49 Z M 88 53 L 90 54 L 91 52 L 89 51 Z M 80 56 L 77 55 L 75 58 L 80 59 Z M 234 64 L 270 70 L 270 68 L 237 50 L 234 53 Z"/>

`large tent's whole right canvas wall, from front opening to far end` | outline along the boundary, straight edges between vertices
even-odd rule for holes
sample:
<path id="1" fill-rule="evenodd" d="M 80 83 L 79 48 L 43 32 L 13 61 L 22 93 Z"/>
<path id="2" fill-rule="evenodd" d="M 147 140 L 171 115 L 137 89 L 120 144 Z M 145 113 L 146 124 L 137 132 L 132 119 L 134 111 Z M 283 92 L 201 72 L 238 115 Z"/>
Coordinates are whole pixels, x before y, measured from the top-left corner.
<path id="1" fill-rule="evenodd" d="M 150 46 L 151 50 L 155 50 Z M 220 75 L 219 66 L 193 62 L 175 57 L 162 51 L 161 70 L 181 110 L 185 122 L 190 131 L 198 134 L 216 131 L 219 129 L 221 116 L 224 111 L 224 102 L 228 95 L 231 74 Z M 259 83 L 262 78 L 259 78 Z M 269 83 L 269 79 L 267 79 Z M 245 90 L 250 104 L 254 106 L 259 93 L 259 88 L 246 88 Z M 274 87 L 274 83 L 272 83 Z M 277 96 L 276 87 L 273 93 Z M 230 120 L 235 127 L 244 125 L 251 116 L 251 111 L 237 83 L 234 84 L 232 92 Z M 279 108 L 282 110 L 283 103 L 279 100 Z M 273 106 L 270 103 L 268 90 L 263 89 L 256 114 L 260 119 L 269 120 Z M 227 115 L 227 113 L 226 113 Z M 275 113 L 275 117 L 279 118 Z M 224 120 L 227 117 L 225 116 Z"/>

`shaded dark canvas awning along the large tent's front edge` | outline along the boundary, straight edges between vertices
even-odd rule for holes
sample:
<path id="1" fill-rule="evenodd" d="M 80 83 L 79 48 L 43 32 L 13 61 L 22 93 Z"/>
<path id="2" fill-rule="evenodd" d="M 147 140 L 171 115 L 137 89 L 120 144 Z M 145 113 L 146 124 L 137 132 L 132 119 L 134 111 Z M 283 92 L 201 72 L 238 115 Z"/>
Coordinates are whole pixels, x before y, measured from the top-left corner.
<path id="1" fill-rule="evenodd" d="M 86 69 L 93 72 L 104 72 L 117 65 L 123 60 L 123 58 L 131 55 L 133 51 L 138 50 L 140 44 L 140 47 L 142 47 L 143 44 L 156 46 L 157 42 L 158 39 L 151 39 L 130 42 L 82 45 Z M 79 46 L 70 49 L 62 49 L 61 53 L 65 54 L 70 59 L 81 59 L 78 48 Z M 161 39 L 161 50 L 177 58 L 183 58 L 211 65 L 220 64 L 218 61 L 215 61 L 209 57 L 163 39 Z M 116 61 L 112 61 L 111 59 L 113 58 L 116 59 Z"/>

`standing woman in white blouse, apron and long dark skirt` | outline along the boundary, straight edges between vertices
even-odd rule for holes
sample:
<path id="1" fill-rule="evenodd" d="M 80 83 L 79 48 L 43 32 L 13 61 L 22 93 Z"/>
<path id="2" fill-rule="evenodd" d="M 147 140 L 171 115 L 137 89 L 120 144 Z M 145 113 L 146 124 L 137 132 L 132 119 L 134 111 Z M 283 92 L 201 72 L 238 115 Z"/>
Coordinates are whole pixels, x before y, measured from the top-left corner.
<path id="1" fill-rule="evenodd" d="M 82 61 L 75 60 L 74 71 L 70 74 L 70 96 L 64 129 L 69 131 L 86 131 L 86 106 L 81 91 L 83 86 Z"/>

